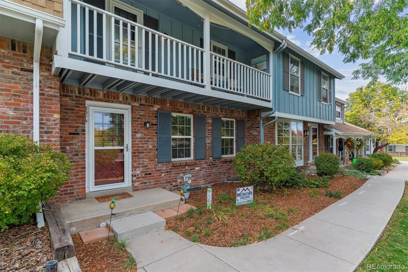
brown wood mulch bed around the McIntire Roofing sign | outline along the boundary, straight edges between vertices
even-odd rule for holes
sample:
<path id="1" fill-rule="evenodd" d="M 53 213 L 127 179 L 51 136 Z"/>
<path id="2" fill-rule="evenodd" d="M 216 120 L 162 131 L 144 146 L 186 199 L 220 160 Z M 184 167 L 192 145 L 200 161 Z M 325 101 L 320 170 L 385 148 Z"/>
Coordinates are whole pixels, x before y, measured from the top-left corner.
<path id="1" fill-rule="evenodd" d="M 288 218 L 286 219 L 288 225 L 283 229 L 279 229 L 279 226 L 282 228 L 282 225 L 285 223 L 284 219 L 267 218 L 266 211 L 259 208 L 253 210 L 246 206 L 236 207 L 234 213 L 227 215 L 228 223 L 217 222 L 215 219 L 212 219 L 211 224 L 208 225 L 206 221 L 208 221 L 209 217 L 213 216 L 213 211 L 204 209 L 202 215 L 197 215 L 196 212 L 192 218 L 185 216 L 184 221 L 177 220 L 176 218 L 168 220 L 166 229 L 173 230 L 189 240 L 191 240 L 192 236 L 198 235 L 199 243 L 205 245 L 232 246 L 231 243 L 241 240 L 244 233 L 247 233 L 249 236 L 248 243 L 255 243 L 259 241 L 258 235 L 266 227 L 274 236 L 297 225 L 339 200 L 337 198 L 325 197 L 326 190 L 332 190 L 333 192 L 341 190 L 343 191 L 343 197 L 345 197 L 357 190 L 365 182 L 365 179 L 336 175 L 333 179 L 330 179 L 330 186 L 328 188 L 315 189 L 319 194 L 318 197 L 310 196 L 310 191 L 313 190 L 311 188 L 282 188 L 273 193 L 254 192 L 254 201 L 258 205 L 262 203 L 264 207 L 266 206 L 269 210 L 273 210 L 275 214 L 279 210 L 285 212 L 284 217 Z M 242 182 L 214 184 L 213 205 L 220 205 L 220 194 L 226 192 L 229 200 L 222 201 L 222 206 L 226 208 L 231 205 L 234 206 L 236 188 L 242 186 L 244 186 Z M 205 206 L 207 201 L 206 194 L 205 188 L 200 192 L 191 192 L 189 199 L 186 199 L 186 203 L 195 207 Z M 295 209 L 295 212 L 293 210 L 290 212 L 289 208 Z M 187 233 L 186 235 L 186 230 L 187 232 L 190 231 L 191 234 Z M 210 236 L 204 236 L 204 230 L 210 231 Z"/>

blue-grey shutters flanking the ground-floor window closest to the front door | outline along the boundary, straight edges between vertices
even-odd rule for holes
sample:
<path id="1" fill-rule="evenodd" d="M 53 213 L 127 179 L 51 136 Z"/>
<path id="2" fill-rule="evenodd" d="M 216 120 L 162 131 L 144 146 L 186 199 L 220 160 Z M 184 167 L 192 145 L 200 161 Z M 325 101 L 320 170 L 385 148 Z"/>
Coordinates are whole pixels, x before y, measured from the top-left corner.
<path id="1" fill-rule="evenodd" d="M 205 159 L 206 118 L 194 115 L 194 159 Z M 220 121 L 221 128 L 221 121 Z M 220 129 L 221 135 L 221 129 Z M 220 142 L 221 144 L 221 142 Z M 220 148 L 221 150 L 221 148 Z M 171 112 L 157 111 L 157 162 L 171 162 Z"/>

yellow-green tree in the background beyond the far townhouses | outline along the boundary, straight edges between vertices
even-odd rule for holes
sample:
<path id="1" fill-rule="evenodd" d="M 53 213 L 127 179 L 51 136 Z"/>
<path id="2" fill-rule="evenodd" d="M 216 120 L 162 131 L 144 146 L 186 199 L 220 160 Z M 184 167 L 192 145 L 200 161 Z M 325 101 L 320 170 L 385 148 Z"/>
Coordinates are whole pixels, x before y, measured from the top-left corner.
<path id="1" fill-rule="evenodd" d="M 357 88 L 347 102 L 346 121 L 377 136 L 374 153 L 391 143 L 408 143 L 407 89 L 375 82 Z"/>

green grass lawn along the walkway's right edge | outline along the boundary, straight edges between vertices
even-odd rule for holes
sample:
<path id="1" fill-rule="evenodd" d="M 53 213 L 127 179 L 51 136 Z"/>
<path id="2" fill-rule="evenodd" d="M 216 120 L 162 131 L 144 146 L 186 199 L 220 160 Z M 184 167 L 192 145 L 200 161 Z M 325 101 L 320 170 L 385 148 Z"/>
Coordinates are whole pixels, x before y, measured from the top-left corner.
<path id="1" fill-rule="evenodd" d="M 408 267 L 408 182 L 404 197 L 391 217 L 383 236 L 357 271 L 403 271 L 401 269 L 367 269 L 367 264 L 405 265 Z"/>

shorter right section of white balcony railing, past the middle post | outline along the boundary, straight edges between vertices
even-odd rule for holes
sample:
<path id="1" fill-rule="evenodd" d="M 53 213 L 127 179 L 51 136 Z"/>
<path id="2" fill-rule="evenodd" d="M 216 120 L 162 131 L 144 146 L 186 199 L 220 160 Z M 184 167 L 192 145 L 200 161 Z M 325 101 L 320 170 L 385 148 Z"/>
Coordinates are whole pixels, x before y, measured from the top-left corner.
<path id="1" fill-rule="evenodd" d="M 271 75 L 210 52 L 211 86 L 246 96 L 271 99 Z"/>

